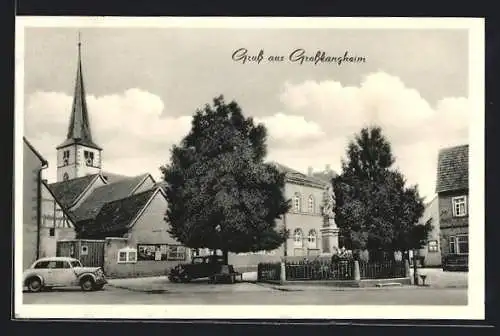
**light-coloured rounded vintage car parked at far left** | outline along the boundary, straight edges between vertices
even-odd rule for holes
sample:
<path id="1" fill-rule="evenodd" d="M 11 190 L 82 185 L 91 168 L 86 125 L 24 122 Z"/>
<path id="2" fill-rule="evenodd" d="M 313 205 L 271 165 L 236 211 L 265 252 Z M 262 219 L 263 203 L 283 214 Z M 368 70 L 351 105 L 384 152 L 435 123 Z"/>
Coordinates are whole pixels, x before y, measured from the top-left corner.
<path id="1" fill-rule="evenodd" d="M 101 267 L 83 267 L 80 260 L 70 257 L 38 259 L 23 274 L 23 285 L 30 292 L 73 286 L 92 291 L 102 289 L 106 283 Z"/>

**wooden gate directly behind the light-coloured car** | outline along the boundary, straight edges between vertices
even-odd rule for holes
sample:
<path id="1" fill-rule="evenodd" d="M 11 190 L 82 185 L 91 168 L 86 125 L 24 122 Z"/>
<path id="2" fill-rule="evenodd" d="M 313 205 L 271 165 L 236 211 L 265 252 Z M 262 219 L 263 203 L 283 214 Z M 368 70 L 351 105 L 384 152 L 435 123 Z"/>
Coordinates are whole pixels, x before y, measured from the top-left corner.
<path id="1" fill-rule="evenodd" d="M 64 240 L 57 242 L 56 256 L 80 260 L 83 266 L 104 267 L 105 240 Z"/>

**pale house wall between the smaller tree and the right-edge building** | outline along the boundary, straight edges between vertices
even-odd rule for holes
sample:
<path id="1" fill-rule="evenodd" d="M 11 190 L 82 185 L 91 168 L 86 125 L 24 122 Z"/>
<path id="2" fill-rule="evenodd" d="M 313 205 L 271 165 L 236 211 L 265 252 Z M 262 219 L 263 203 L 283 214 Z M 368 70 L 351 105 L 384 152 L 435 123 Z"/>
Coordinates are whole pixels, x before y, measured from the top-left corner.
<path id="1" fill-rule="evenodd" d="M 426 205 L 420 224 L 425 224 L 429 219 L 431 219 L 432 230 L 429 233 L 428 241 L 437 241 L 437 251 L 430 251 L 429 244 L 426 244 L 419 250 L 419 256 L 424 257 L 424 265 L 426 266 L 440 266 L 441 242 L 439 228 L 439 198 L 437 196 Z"/>

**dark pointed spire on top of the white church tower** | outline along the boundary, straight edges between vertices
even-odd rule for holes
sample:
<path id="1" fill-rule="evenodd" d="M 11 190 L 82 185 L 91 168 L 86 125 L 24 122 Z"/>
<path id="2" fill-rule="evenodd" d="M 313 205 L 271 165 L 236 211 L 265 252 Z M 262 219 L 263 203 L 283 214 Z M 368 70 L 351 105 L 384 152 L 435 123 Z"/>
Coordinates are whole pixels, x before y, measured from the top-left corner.
<path id="1" fill-rule="evenodd" d="M 58 146 L 58 148 L 66 147 L 71 144 L 81 144 L 101 150 L 102 148 L 92 141 L 87 101 L 85 98 L 85 85 L 83 82 L 81 45 L 80 33 L 78 33 L 78 65 L 76 70 L 75 92 L 71 108 L 71 117 L 66 141 Z"/>

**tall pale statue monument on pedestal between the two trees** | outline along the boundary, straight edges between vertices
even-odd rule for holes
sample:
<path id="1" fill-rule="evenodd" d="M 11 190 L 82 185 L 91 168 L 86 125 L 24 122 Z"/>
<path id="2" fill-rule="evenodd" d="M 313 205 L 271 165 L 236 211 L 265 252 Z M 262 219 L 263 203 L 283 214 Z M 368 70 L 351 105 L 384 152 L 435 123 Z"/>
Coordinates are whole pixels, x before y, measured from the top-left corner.
<path id="1" fill-rule="evenodd" d="M 339 247 L 339 229 L 335 223 L 335 193 L 333 186 L 329 183 L 323 192 L 323 203 L 321 213 L 323 215 L 323 227 L 321 228 L 321 240 L 323 253 L 333 253 Z"/>

